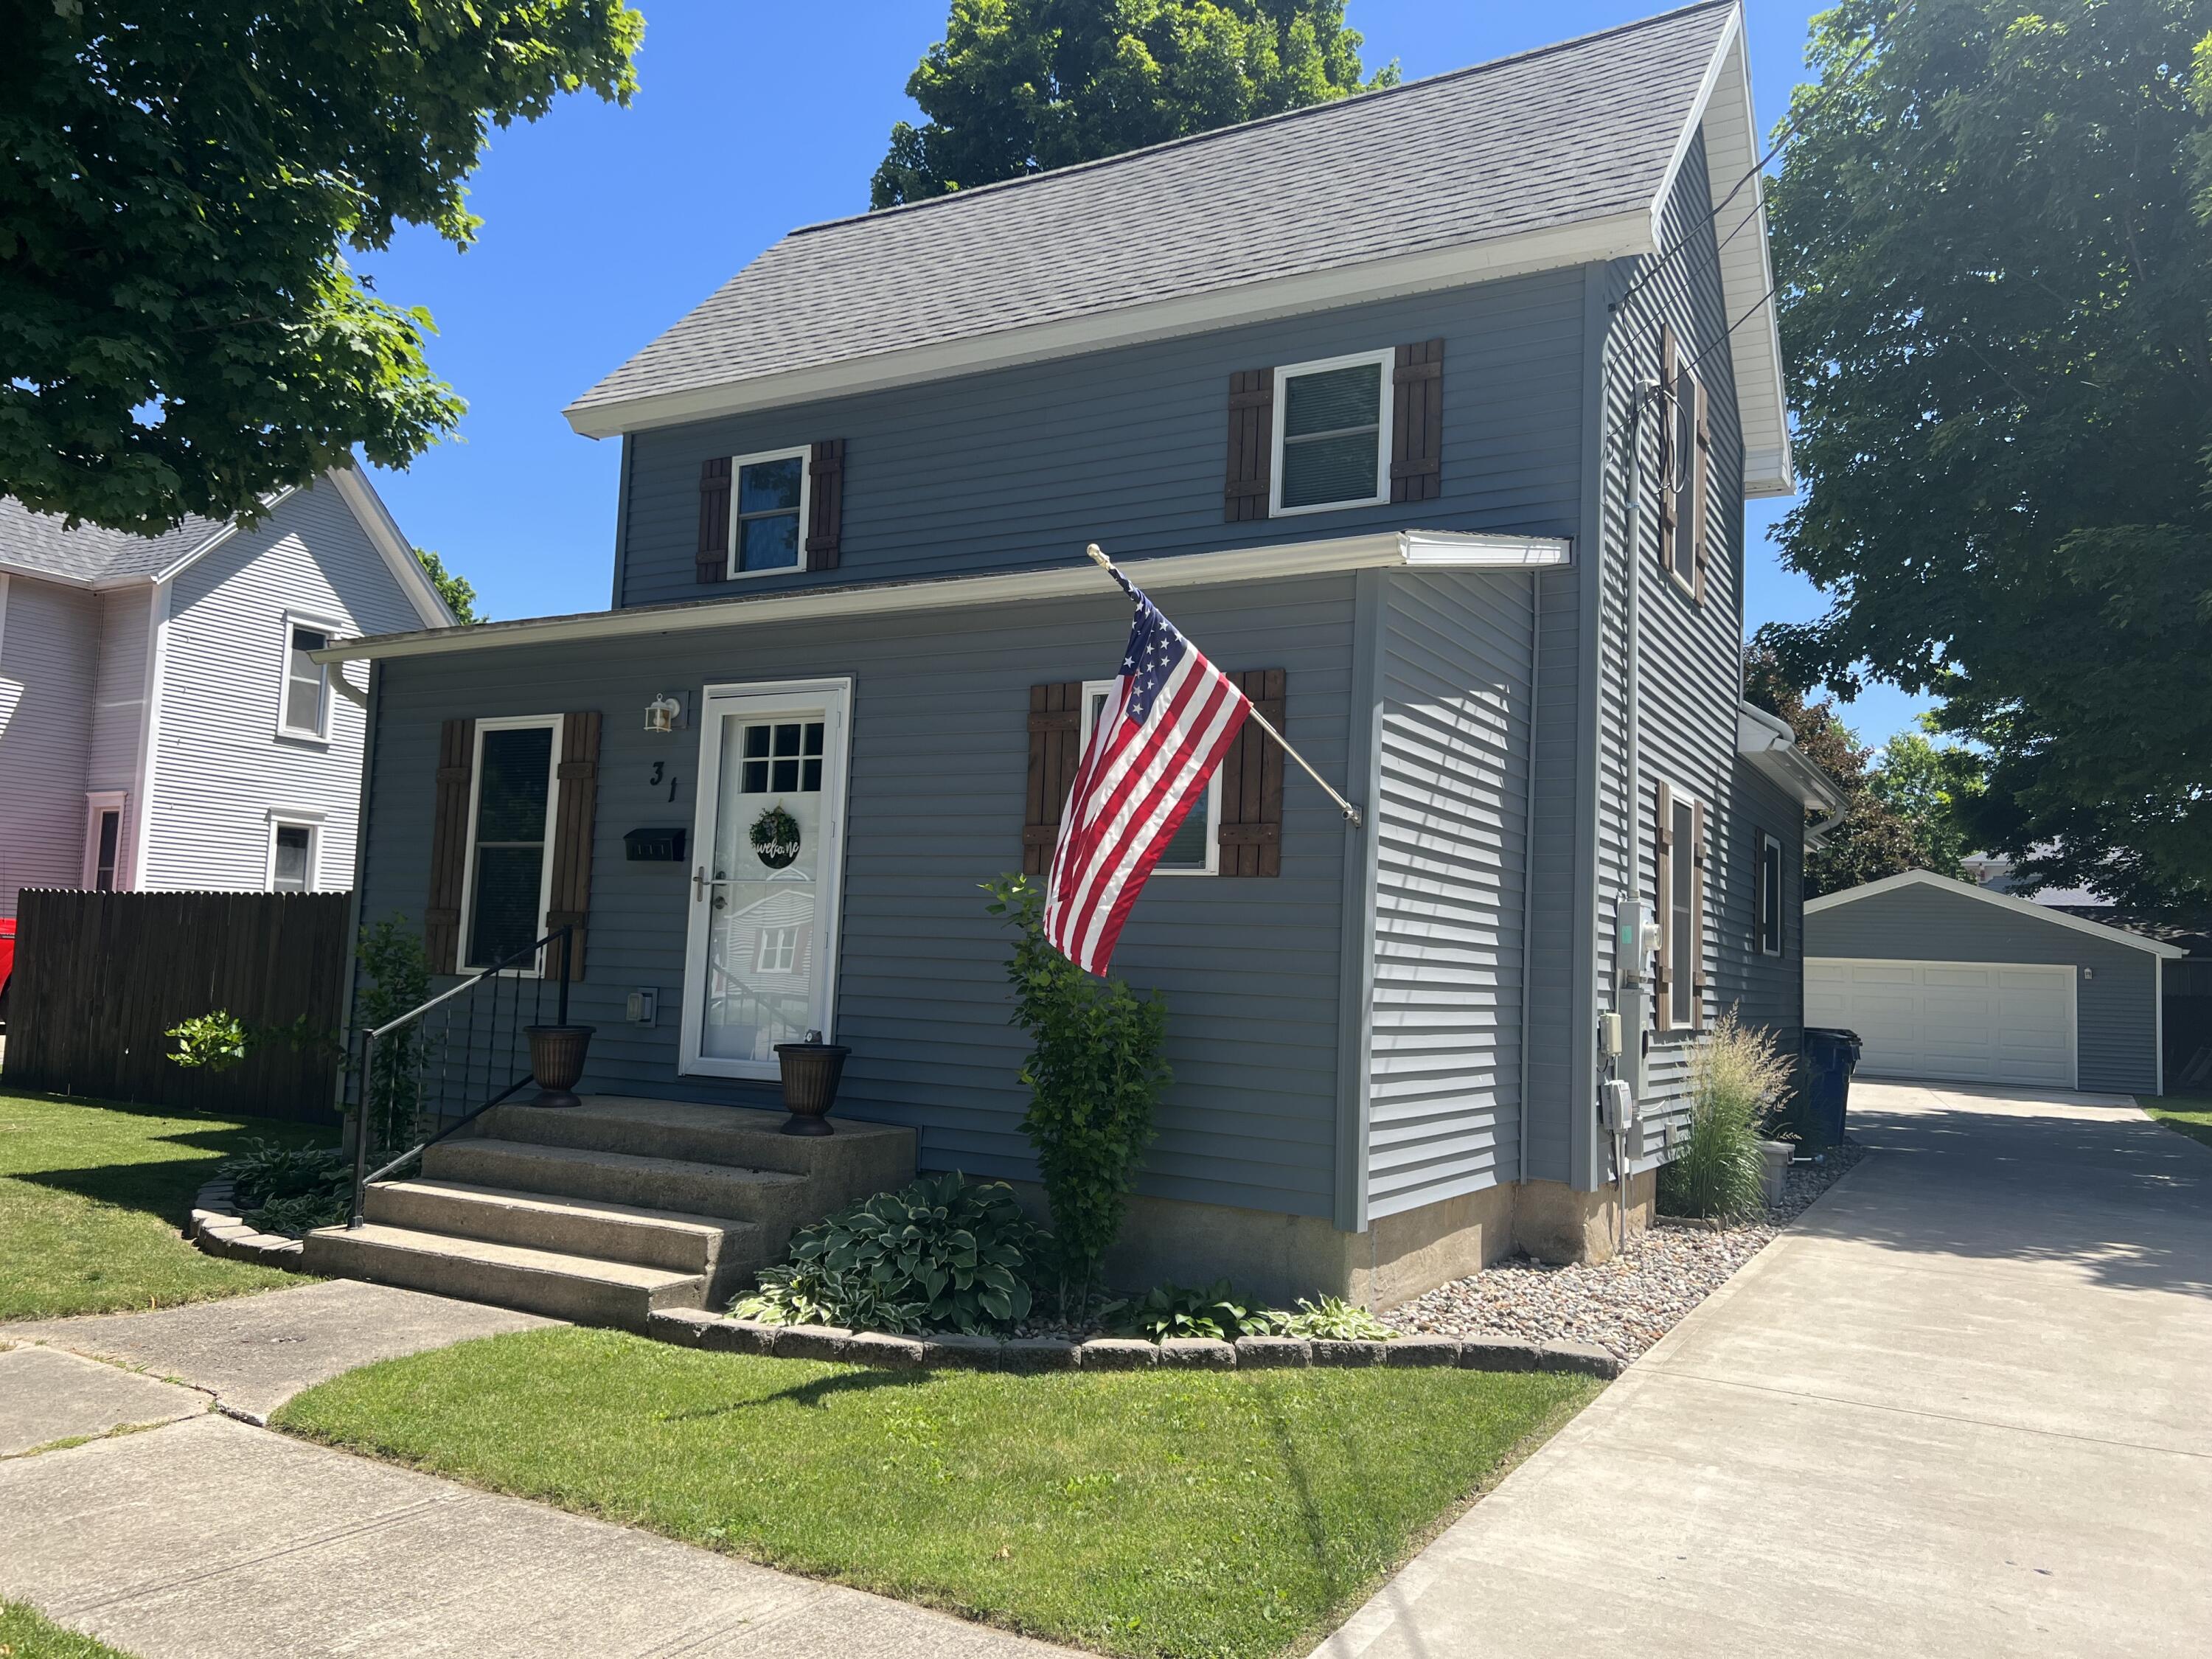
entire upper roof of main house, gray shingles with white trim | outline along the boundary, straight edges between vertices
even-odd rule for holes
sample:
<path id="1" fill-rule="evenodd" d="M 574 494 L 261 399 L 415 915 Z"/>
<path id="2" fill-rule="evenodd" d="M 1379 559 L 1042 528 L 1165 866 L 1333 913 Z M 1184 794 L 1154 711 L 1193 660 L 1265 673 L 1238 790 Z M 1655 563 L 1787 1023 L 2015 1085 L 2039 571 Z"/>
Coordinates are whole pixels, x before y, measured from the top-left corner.
<path id="1" fill-rule="evenodd" d="M 602 438 L 1650 252 L 1690 142 L 1705 131 L 1714 177 L 1734 188 L 1756 159 L 1750 119 L 1741 13 L 1712 0 L 1380 93 L 807 226 L 591 387 L 568 422 Z M 1759 186 L 1739 204 L 1763 212 Z M 1763 276 L 1765 237 L 1736 241 Z M 1759 299 L 1736 296 L 1752 281 L 1743 270 L 1723 268 L 1723 281 L 1732 314 Z M 1754 336 L 1756 358 L 1772 325 L 1739 334 Z M 1774 387 L 1750 405 L 1770 403 L 1778 427 L 1772 365 L 1750 363 Z M 1787 465 L 1785 434 L 1761 427 L 1756 442 L 1763 467 L 1776 453 Z"/>

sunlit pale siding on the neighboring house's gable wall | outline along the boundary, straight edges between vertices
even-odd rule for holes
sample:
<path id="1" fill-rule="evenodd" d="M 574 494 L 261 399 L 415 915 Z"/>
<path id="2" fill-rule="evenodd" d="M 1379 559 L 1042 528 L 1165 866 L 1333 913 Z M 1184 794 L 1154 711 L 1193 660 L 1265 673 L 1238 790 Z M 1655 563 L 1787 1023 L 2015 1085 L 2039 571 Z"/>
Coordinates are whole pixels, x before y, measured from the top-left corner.
<path id="1" fill-rule="evenodd" d="M 332 690 L 327 741 L 276 734 L 283 617 L 398 633 L 420 626 L 414 606 L 332 484 L 288 495 L 170 586 L 142 885 L 268 887 L 270 814 L 285 812 L 321 814 L 314 885 L 352 887 L 363 710 Z"/>

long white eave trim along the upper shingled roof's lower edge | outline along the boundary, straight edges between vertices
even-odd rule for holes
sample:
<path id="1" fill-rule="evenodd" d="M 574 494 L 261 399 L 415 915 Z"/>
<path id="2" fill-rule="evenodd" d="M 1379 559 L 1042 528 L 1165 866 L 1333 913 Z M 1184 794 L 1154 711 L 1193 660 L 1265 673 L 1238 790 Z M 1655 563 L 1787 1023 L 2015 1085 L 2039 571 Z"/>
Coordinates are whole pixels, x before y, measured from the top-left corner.
<path id="1" fill-rule="evenodd" d="M 1279 316 L 1323 312 L 1376 299 L 1420 294 L 1433 288 L 1522 276 L 1533 270 L 1590 265 L 1606 259 L 1628 259 L 1652 252 L 1650 212 L 1637 208 L 1604 219 L 1571 226 L 1548 226 L 1517 237 L 1438 248 L 1398 259 L 1376 259 L 1365 265 L 1274 276 L 1212 294 L 1183 294 L 1150 305 L 1124 305 L 1093 316 L 973 334 L 938 345 L 914 345 L 902 352 L 838 358 L 807 369 L 763 374 L 752 380 L 726 380 L 686 392 L 657 392 L 641 398 L 608 403 L 571 403 L 562 414 L 586 438 L 617 438 L 624 431 L 677 427 L 690 420 L 774 409 L 816 398 L 885 392 L 925 380 L 947 380 L 956 374 L 1006 369 L 1018 363 L 1104 352 L 1115 345 L 1141 345 L 1181 334 L 1237 323 L 1265 323 Z"/>

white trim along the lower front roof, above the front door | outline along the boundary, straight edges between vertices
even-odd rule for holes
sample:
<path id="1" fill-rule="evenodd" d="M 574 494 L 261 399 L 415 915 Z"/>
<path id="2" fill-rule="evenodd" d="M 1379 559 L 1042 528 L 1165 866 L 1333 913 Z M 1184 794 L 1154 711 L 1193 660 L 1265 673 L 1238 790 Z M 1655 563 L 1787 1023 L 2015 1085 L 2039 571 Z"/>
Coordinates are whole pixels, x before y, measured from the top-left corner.
<path id="1" fill-rule="evenodd" d="M 1221 582 L 1265 582 L 1336 571 L 1535 571 L 1573 560 L 1573 544 L 1533 535 L 1469 535 L 1462 531 L 1378 531 L 1327 542 L 1239 546 L 1221 553 L 1172 553 L 1157 560 L 1124 560 L 1121 571 L 1141 588 L 1194 588 Z M 341 639 L 314 653 L 316 661 L 378 661 L 385 657 L 436 657 L 495 646 L 544 646 L 566 639 L 624 639 L 706 628 L 743 628 L 807 617 L 865 617 L 889 611 L 956 611 L 1015 599 L 1077 599 L 1115 593 L 1113 582 L 1088 560 L 1042 571 L 993 575 L 945 575 L 914 582 L 865 582 L 825 588 L 748 593 L 730 599 L 684 599 L 679 604 L 588 611 L 573 617 L 526 617 L 484 622 L 473 628 L 374 635 Z"/>

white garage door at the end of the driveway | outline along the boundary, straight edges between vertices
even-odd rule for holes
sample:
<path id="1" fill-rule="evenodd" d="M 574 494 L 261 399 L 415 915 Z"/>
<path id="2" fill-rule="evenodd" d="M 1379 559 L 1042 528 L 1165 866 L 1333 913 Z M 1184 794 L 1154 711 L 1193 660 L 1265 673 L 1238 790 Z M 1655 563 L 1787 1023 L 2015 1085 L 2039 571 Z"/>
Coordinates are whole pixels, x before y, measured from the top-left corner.
<path id="1" fill-rule="evenodd" d="M 1867 1044 L 1858 1071 L 1969 1084 L 2075 1086 L 2070 967 L 1805 958 L 1805 1024 Z"/>

